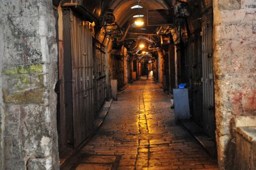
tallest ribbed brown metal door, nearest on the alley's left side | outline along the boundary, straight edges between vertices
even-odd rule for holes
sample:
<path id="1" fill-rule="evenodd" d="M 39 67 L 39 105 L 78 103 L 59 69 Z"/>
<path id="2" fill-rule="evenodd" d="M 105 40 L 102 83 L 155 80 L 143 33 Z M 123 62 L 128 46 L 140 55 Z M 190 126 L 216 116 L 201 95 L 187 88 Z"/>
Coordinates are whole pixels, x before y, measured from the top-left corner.
<path id="1" fill-rule="evenodd" d="M 71 12 L 74 147 L 93 132 L 92 28 Z"/>

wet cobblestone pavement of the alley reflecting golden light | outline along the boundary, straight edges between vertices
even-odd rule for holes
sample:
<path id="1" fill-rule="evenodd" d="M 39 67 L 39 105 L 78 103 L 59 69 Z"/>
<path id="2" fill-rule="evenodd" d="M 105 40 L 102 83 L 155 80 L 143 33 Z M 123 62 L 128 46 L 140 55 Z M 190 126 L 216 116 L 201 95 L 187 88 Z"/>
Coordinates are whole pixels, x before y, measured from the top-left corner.
<path id="1" fill-rule="evenodd" d="M 218 169 L 198 143 L 175 125 L 170 97 L 141 78 L 118 95 L 97 135 L 72 169 Z"/>

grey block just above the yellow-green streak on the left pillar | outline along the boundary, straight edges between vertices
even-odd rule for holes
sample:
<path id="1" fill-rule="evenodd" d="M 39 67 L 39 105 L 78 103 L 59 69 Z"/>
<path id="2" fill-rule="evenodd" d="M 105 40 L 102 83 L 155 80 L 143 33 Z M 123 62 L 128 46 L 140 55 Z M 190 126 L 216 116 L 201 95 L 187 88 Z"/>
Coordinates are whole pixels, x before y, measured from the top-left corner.
<path id="1" fill-rule="evenodd" d="M 9 35 L 4 38 L 4 63 L 39 63 L 42 61 L 40 50 L 40 38 L 36 28 L 39 27 L 36 17 L 16 17 L 11 16 L 6 18 L 7 24 L 4 25 L 4 35 Z M 17 62 L 19 61 L 19 62 Z"/>

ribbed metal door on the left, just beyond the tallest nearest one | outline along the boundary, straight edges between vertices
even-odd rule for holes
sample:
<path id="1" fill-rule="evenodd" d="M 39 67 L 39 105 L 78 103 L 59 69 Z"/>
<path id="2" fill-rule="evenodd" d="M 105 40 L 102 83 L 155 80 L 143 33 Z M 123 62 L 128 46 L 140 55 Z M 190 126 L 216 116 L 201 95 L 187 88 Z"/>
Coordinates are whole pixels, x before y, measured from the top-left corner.
<path id="1" fill-rule="evenodd" d="M 97 40 L 93 40 L 95 60 L 95 109 L 99 112 L 106 99 L 106 65 L 105 47 Z"/>

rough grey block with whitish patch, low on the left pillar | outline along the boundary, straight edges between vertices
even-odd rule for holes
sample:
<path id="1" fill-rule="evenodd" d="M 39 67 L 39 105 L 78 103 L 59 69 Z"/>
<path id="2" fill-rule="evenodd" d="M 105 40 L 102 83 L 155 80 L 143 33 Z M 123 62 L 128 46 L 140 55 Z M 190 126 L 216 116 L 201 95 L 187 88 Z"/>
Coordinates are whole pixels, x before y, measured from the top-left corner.
<path id="1" fill-rule="evenodd" d="M 40 105 L 29 105 L 22 107 L 22 114 L 20 133 L 26 155 L 49 156 L 52 139 L 51 124 L 45 122 L 48 119 L 46 109 Z"/>

